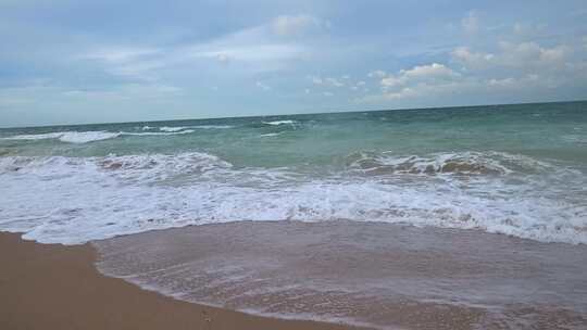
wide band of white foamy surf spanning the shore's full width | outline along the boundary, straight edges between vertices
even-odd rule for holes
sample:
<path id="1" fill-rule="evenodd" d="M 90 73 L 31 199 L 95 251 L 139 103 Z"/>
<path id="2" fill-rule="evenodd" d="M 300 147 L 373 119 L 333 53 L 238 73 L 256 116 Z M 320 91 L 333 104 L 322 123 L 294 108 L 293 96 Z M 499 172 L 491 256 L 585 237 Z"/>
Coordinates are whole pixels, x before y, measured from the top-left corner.
<path id="1" fill-rule="evenodd" d="M 573 169 L 507 153 L 353 157 L 322 175 L 236 168 L 197 152 L 0 157 L 0 229 L 77 244 L 187 225 L 349 219 L 587 243 L 587 182 Z M 366 158 L 394 170 L 365 176 Z M 438 175 L 421 170 L 430 162 Z M 465 165 L 448 172 L 454 162 Z"/>

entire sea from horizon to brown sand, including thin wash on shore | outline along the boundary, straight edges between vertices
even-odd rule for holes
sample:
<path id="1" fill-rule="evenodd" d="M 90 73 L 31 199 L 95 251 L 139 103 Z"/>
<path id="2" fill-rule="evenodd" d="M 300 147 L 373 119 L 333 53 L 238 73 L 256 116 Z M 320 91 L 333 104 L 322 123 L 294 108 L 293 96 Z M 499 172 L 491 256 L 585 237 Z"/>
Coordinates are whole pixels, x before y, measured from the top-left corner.
<path id="1" fill-rule="evenodd" d="M 104 274 L 188 301 L 587 323 L 587 102 L 1 129 L 0 194 L 0 230 L 93 242 Z"/>

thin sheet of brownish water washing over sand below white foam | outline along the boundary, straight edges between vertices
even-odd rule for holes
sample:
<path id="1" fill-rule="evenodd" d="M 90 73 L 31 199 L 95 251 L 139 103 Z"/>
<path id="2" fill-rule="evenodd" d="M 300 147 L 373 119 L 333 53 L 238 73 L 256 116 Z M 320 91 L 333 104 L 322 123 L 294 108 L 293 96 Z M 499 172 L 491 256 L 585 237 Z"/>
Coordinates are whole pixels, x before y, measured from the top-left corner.
<path id="1" fill-rule="evenodd" d="M 261 315 L 382 329 L 587 327 L 585 245 L 357 221 L 239 221 L 95 245 L 105 275 Z"/>

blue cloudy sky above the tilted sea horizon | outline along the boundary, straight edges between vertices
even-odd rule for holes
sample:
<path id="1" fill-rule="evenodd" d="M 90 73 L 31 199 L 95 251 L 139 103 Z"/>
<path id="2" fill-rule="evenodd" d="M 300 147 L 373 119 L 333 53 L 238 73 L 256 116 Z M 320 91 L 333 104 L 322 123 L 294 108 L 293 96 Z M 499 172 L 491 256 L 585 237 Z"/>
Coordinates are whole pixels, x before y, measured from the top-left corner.
<path id="1" fill-rule="evenodd" d="M 0 127 L 585 99 L 585 0 L 0 0 Z"/>

